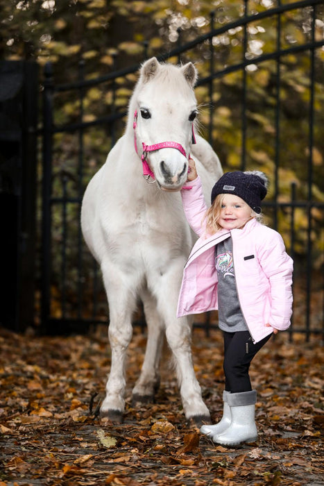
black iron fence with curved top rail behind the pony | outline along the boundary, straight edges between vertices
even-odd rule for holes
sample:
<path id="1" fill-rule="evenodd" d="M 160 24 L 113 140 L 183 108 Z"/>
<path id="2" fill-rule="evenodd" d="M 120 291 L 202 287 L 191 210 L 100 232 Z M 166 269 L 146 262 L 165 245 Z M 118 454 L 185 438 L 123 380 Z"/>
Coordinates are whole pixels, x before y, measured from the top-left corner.
<path id="1" fill-rule="evenodd" d="M 230 23 L 225 14 L 212 12 L 207 33 L 182 43 L 178 31 L 176 48 L 157 58 L 193 60 L 205 73 L 196 87 L 198 101 L 205 106 L 203 133 L 225 169 L 260 167 L 270 176 L 273 189 L 264 212 L 296 262 L 289 333 L 303 333 L 309 340 L 310 335 L 324 332 L 320 303 L 324 42 L 319 35 L 323 1 L 279 1 L 275 8 L 258 12 L 248 8 L 246 0 L 241 15 Z M 142 60 L 149 57 L 148 49 L 145 44 Z M 123 131 L 138 69 L 139 63 L 85 79 L 80 64 L 78 81 L 64 85 L 55 84 L 51 65 L 44 70 L 41 324 L 45 333 L 82 332 L 107 321 L 100 271 L 80 231 L 80 206 L 89 178 Z M 300 81 L 296 72 L 301 73 Z M 104 108 L 95 119 L 87 112 L 89 99 Z M 72 118 L 58 115 L 62 103 L 71 103 Z M 298 144 L 299 169 L 291 160 L 291 153 L 296 154 L 291 147 Z M 144 325 L 140 307 L 135 324 Z M 208 333 L 216 321 L 207 314 L 194 325 Z"/>

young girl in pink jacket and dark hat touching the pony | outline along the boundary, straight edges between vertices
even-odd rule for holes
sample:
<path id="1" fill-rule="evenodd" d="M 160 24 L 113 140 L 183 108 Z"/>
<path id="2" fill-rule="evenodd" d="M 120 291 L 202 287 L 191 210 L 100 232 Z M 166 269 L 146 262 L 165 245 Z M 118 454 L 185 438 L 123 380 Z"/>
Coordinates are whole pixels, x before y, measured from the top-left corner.
<path id="1" fill-rule="evenodd" d="M 217 444 L 257 438 L 248 369 L 272 333 L 290 325 L 293 262 L 279 233 L 259 222 L 266 176 L 227 172 L 212 189 L 207 210 L 194 160 L 181 191 L 187 220 L 199 236 L 185 265 L 178 317 L 218 309 L 223 330 L 223 417 L 201 427 Z"/>

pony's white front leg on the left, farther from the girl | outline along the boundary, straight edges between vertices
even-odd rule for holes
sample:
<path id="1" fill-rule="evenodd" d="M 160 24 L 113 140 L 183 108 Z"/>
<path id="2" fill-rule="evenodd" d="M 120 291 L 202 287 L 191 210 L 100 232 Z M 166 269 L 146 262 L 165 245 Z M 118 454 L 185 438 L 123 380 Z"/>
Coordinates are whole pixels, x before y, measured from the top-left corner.
<path id="1" fill-rule="evenodd" d="M 108 295 L 110 323 L 108 335 L 111 347 L 111 366 L 105 399 L 101 403 L 101 415 L 114 422 L 123 420 L 125 410 L 125 364 L 126 352 L 133 335 L 132 316 L 136 308 L 134 293 L 129 289 L 127 276 L 117 267 L 101 265 L 103 282 Z M 113 276 L 113 281 L 111 280 Z"/>

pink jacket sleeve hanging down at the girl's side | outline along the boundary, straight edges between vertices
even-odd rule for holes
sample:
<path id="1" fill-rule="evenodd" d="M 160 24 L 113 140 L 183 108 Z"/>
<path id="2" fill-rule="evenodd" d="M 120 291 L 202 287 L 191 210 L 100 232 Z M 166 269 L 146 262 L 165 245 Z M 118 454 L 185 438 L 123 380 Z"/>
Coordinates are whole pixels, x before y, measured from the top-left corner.
<path id="1" fill-rule="evenodd" d="M 278 330 L 290 326 L 293 296 L 291 291 L 293 260 L 287 254 L 282 237 L 271 230 L 259 248 L 259 262 L 270 283 L 271 316 L 269 324 Z"/>

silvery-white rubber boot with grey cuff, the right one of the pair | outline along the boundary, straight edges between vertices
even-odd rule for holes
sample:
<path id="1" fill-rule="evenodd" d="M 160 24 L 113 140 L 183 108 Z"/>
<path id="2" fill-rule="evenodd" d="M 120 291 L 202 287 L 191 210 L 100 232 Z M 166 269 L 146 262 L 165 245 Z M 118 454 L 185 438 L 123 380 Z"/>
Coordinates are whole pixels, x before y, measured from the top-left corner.
<path id="1" fill-rule="evenodd" d="M 255 426 L 255 402 L 257 392 L 231 393 L 228 396 L 228 405 L 232 420 L 230 426 L 220 434 L 212 436 L 213 442 L 223 446 L 237 446 L 241 442 L 254 442 L 257 439 Z"/>

